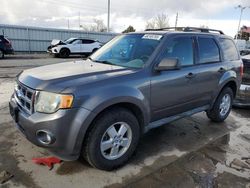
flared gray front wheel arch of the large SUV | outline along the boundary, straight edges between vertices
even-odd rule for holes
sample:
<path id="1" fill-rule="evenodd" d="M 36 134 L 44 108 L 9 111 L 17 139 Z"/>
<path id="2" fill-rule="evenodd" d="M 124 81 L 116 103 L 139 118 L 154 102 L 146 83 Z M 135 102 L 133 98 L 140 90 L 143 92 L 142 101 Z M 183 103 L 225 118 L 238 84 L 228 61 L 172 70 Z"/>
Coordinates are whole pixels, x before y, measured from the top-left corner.
<path id="1" fill-rule="evenodd" d="M 145 128 L 145 125 L 150 121 L 150 105 L 148 99 L 144 97 L 141 91 L 139 89 L 124 86 L 112 87 L 112 89 L 105 88 L 100 92 L 95 92 L 95 95 L 82 103 L 82 108 L 90 110 L 91 116 L 81 125 L 77 136 L 75 151 L 80 151 L 86 132 L 92 121 L 103 110 L 119 103 L 130 103 L 137 106 L 143 115 L 144 125 L 142 128 Z"/>

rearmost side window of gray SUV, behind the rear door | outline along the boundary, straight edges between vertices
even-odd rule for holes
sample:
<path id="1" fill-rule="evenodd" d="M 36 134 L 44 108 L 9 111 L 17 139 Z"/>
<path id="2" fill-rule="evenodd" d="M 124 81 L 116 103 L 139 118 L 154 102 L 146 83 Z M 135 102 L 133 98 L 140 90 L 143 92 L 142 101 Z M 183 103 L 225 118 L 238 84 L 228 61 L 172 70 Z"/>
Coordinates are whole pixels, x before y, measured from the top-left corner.
<path id="1" fill-rule="evenodd" d="M 234 42 L 230 39 L 220 39 L 221 48 L 226 61 L 238 60 L 239 55 Z"/>

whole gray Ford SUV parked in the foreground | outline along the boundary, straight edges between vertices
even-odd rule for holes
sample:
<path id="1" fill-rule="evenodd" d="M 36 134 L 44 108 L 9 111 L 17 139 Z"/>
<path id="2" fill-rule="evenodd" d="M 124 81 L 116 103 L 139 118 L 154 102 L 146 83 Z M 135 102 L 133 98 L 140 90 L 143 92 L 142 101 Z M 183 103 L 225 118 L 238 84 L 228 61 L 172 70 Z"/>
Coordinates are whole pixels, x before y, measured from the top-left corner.
<path id="1" fill-rule="evenodd" d="M 242 74 L 235 44 L 221 31 L 129 33 L 87 60 L 17 75 L 10 113 L 33 144 L 63 160 L 84 158 L 112 170 L 152 128 L 201 111 L 224 121 Z"/>

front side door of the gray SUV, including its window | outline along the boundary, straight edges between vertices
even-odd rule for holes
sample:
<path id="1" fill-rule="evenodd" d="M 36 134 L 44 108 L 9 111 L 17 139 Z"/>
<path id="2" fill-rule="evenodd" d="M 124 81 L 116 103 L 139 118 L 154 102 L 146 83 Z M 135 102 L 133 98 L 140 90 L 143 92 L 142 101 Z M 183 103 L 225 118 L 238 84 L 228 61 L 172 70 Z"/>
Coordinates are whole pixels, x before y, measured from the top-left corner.
<path id="1" fill-rule="evenodd" d="M 197 92 L 194 74 L 194 38 L 176 36 L 167 41 L 163 58 L 177 58 L 181 69 L 154 73 L 151 77 L 152 121 L 185 112 L 193 108 Z M 160 61 L 160 60 L 159 60 Z"/>

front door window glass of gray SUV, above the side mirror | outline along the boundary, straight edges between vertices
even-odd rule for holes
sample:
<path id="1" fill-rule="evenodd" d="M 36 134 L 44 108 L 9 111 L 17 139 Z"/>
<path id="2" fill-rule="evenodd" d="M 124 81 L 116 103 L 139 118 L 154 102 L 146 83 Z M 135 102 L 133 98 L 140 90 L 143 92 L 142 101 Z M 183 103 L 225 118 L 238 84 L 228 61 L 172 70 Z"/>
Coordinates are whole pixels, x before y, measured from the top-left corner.
<path id="1" fill-rule="evenodd" d="M 178 37 L 168 42 L 163 58 L 177 58 L 181 65 L 193 65 L 193 39 Z"/>

